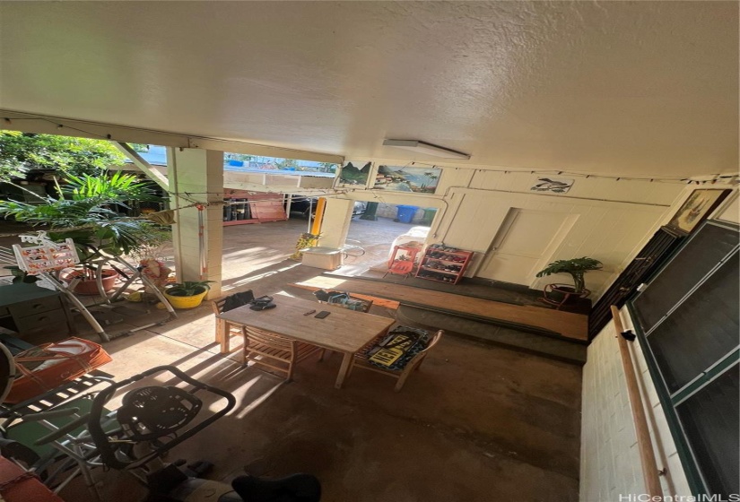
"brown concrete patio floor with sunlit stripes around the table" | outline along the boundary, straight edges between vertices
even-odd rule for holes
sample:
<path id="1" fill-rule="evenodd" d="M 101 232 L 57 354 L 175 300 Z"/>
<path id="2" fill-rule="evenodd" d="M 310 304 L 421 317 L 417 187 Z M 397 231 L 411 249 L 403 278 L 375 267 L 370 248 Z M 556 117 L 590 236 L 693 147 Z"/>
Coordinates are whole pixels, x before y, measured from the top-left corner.
<path id="1" fill-rule="evenodd" d="M 312 299 L 286 286 L 324 272 L 286 259 L 305 225 L 224 229 L 225 289 Z M 372 313 L 393 316 L 379 307 Z M 241 368 L 235 354 L 219 354 L 209 305 L 178 314 L 166 325 L 106 343 L 114 360 L 101 369 L 125 378 L 172 364 L 233 393 L 238 405 L 230 415 L 170 454 L 170 460 L 215 463 L 213 480 L 245 471 L 266 477 L 310 472 L 321 480 L 326 502 L 578 499 L 576 365 L 449 334 L 397 394 L 394 380 L 361 369 L 335 389 L 336 355 L 304 361 L 295 380 L 283 384 L 279 376 Z M 107 502 L 144 496 L 126 474 L 100 476 Z M 67 502 L 90 499 L 79 486 L 62 495 Z"/>

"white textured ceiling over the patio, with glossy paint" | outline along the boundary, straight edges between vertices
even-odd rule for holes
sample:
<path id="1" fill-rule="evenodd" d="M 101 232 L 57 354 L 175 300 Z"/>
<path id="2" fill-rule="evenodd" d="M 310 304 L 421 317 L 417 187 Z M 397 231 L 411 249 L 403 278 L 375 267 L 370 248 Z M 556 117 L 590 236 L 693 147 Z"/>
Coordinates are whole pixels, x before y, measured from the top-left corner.
<path id="1" fill-rule="evenodd" d="M 357 159 L 738 165 L 736 2 L 0 2 L 0 51 L 16 111 Z"/>

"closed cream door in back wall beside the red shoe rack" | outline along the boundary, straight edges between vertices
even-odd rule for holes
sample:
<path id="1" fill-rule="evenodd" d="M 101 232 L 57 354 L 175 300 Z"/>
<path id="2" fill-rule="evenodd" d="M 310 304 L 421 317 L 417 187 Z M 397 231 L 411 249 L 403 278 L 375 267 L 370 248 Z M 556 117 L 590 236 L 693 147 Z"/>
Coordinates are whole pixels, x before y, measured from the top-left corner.
<path id="1" fill-rule="evenodd" d="M 528 286 L 544 266 L 542 260 L 553 254 L 577 218 L 566 213 L 512 207 L 477 276 Z"/>

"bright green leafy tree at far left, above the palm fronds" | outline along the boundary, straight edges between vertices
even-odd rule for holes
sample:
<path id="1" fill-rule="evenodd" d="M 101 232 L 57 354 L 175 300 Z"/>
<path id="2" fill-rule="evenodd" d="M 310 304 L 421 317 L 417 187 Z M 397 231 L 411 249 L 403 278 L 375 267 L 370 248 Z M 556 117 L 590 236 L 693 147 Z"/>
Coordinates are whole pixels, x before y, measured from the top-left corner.
<path id="1" fill-rule="evenodd" d="M 58 169 L 64 176 L 100 176 L 126 156 L 106 140 L 0 131 L 0 181 L 25 177 L 29 169 Z"/>

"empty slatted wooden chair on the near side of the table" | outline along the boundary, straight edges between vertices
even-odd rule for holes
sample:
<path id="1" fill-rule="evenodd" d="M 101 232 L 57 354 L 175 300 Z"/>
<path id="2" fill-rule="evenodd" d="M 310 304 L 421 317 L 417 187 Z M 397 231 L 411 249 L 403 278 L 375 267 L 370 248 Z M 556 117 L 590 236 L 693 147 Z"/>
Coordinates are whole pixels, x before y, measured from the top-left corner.
<path id="1" fill-rule="evenodd" d="M 284 373 L 286 382 L 292 380 L 293 368 L 296 364 L 322 351 L 315 345 L 298 342 L 257 328 L 247 327 L 244 331 L 242 364 L 248 364 L 251 360 L 256 364 Z"/>

